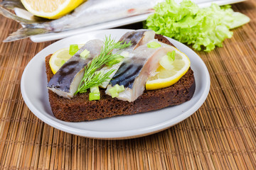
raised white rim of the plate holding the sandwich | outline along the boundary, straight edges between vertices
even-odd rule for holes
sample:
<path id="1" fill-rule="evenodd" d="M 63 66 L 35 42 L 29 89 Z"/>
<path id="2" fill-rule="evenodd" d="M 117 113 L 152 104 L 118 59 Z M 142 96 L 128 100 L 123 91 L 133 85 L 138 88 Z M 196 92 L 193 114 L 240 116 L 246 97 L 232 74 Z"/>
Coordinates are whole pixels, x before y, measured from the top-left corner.
<path id="1" fill-rule="evenodd" d="M 123 32 L 124 31 L 126 31 L 126 32 L 131 31 L 130 29 L 106 29 L 106 30 L 95 30 L 95 31 L 92 31 L 90 33 L 97 33 L 97 32 L 101 33 L 101 32 L 105 32 L 107 30 L 116 30 L 116 31 L 123 31 Z M 54 42 L 51 45 L 54 45 L 55 43 L 60 43 L 62 41 L 68 40 L 68 39 L 72 39 L 74 37 L 78 37 L 78 36 L 82 36 L 82 35 L 84 36 L 84 35 L 87 35 L 87 34 L 88 33 L 82 33 L 81 35 L 74 35 L 74 36 L 71 36 L 71 37 L 68 37 L 68 38 L 64 38 L 62 40 L 58 40 L 57 42 Z M 171 38 L 168 38 L 168 39 L 171 40 L 171 41 L 177 42 L 177 43 L 181 43 L 181 42 L 178 42 L 178 41 L 176 41 L 174 39 L 171 39 Z M 184 45 L 184 46 L 186 46 L 186 45 Z M 68 125 L 64 125 L 64 124 L 61 124 L 59 122 L 56 122 L 55 120 L 52 120 L 52 119 L 48 118 L 48 116 L 41 113 L 41 111 L 39 111 L 38 108 L 33 106 L 33 104 L 31 103 L 31 100 L 28 98 L 28 96 L 26 95 L 26 92 L 25 92 L 24 77 L 26 75 L 26 72 L 28 72 L 29 65 L 33 64 L 33 61 L 36 60 L 37 56 L 40 56 L 41 53 L 43 53 L 48 48 L 50 48 L 50 45 L 48 45 L 43 50 L 38 52 L 32 58 L 32 60 L 30 62 L 28 62 L 28 64 L 26 65 L 26 68 L 23 70 L 23 74 L 22 74 L 22 77 L 21 77 L 21 94 L 23 96 L 23 100 L 25 101 L 26 105 L 31 110 L 31 112 L 34 115 L 36 115 L 36 117 L 38 117 L 44 123 L 52 126 L 53 128 L 57 128 L 58 130 L 62 130 L 64 132 L 69 132 L 69 133 L 74 134 L 74 135 L 80 135 L 82 137 L 90 137 L 90 138 L 104 139 L 104 140 L 120 140 L 120 139 L 122 140 L 122 139 L 129 139 L 129 138 L 134 138 L 134 137 L 142 137 L 142 136 L 145 136 L 145 135 L 150 135 L 152 133 L 159 132 L 161 130 L 165 130 L 167 128 L 170 128 L 171 126 L 176 125 L 177 123 L 180 123 L 181 121 L 185 120 L 190 115 L 193 115 L 193 113 L 195 113 L 198 110 L 198 108 L 200 108 L 203 105 L 204 101 L 206 101 L 206 98 L 207 98 L 208 93 L 210 91 L 210 74 L 208 72 L 206 64 L 204 64 L 203 60 L 201 59 L 201 57 L 199 57 L 196 54 L 196 52 L 193 52 L 193 50 L 191 50 L 191 48 L 188 47 L 193 53 L 196 54 L 199 61 L 201 62 L 201 66 L 204 67 L 203 69 L 207 71 L 206 72 L 206 79 L 207 79 L 206 89 L 203 91 L 203 94 L 202 94 L 202 96 L 200 96 L 199 100 L 195 103 L 196 107 L 193 106 L 192 108 L 189 108 L 186 112 L 181 113 L 180 115 L 177 115 L 175 118 L 173 118 L 171 120 L 166 120 L 164 122 L 161 122 L 161 123 L 158 123 L 158 124 L 155 124 L 155 125 L 151 125 L 151 126 L 146 127 L 146 128 L 139 128 L 139 129 L 135 129 L 135 130 L 121 130 L 121 131 L 114 131 L 114 132 L 113 131 L 112 132 L 103 131 L 102 132 L 102 131 L 81 130 L 81 129 L 78 129 L 78 128 L 73 128 L 73 127 L 70 127 Z"/>

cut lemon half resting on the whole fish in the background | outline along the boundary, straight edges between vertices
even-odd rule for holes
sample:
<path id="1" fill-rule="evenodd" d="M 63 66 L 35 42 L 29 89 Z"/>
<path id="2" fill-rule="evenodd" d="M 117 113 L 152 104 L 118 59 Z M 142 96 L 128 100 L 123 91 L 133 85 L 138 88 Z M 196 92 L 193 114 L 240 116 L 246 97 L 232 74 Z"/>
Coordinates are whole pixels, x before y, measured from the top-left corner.
<path id="1" fill-rule="evenodd" d="M 35 16 L 57 19 L 73 11 L 85 0 L 21 0 L 23 6 Z"/>

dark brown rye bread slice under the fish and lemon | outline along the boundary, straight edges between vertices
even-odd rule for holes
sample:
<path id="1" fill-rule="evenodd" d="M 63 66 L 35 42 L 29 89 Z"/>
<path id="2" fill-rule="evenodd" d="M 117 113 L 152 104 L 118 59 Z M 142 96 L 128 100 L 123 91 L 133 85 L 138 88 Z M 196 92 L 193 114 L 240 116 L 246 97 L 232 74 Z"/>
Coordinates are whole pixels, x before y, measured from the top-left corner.
<path id="1" fill-rule="evenodd" d="M 172 45 L 162 35 L 156 35 L 156 39 Z M 53 77 L 50 69 L 50 56 L 46 57 L 47 79 Z M 175 106 L 189 101 L 196 89 L 196 82 L 191 68 L 181 77 L 176 84 L 164 89 L 144 91 L 136 101 L 120 101 L 105 94 L 105 89 L 100 89 L 100 100 L 89 101 L 89 92 L 78 94 L 72 99 L 63 98 L 48 90 L 50 107 L 53 115 L 67 122 L 80 122 L 85 120 L 96 120 L 110 118 L 116 115 L 132 115 L 147 111 L 154 111 L 168 106 Z M 171 113 L 170 113 L 171 114 Z"/>

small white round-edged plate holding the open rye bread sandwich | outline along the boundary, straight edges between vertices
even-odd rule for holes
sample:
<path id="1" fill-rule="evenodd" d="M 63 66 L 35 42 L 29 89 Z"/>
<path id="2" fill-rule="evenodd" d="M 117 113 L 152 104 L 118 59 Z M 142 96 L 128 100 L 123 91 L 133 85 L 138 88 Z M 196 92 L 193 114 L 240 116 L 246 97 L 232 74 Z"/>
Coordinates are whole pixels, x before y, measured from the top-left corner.
<path id="1" fill-rule="evenodd" d="M 53 116 L 48 101 L 48 90 L 46 89 L 45 57 L 63 47 L 69 47 L 70 44 L 82 44 L 95 38 L 103 40 L 106 35 L 111 35 L 112 38 L 118 40 L 127 31 L 130 30 L 97 30 L 82 35 L 75 35 L 59 40 L 38 52 L 24 69 L 21 78 L 21 94 L 28 108 L 39 119 L 54 128 L 75 135 L 99 139 L 126 139 L 149 135 L 165 130 L 195 113 L 208 96 L 210 89 L 208 69 L 196 52 L 193 52 L 193 50 L 181 42 L 168 38 L 179 50 L 188 55 L 191 60 L 191 69 L 193 69 L 196 79 L 196 91 L 191 101 L 158 111 L 122 115 L 81 123 L 68 123 L 58 120 Z"/>

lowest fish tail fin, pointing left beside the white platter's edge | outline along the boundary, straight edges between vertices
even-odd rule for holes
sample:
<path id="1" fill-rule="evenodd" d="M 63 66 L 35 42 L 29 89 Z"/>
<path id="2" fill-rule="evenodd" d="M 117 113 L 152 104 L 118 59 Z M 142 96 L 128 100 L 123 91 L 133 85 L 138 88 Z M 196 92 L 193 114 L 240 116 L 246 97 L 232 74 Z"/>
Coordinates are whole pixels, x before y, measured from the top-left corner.
<path id="1" fill-rule="evenodd" d="M 49 30 L 46 28 L 20 28 L 16 32 L 11 33 L 8 38 L 6 38 L 3 42 L 11 42 L 15 40 L 21 40 L 23 38 L 28 38 L 31 35 L 38 35 L 43 33 L 48 33 Z"/>

